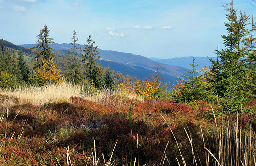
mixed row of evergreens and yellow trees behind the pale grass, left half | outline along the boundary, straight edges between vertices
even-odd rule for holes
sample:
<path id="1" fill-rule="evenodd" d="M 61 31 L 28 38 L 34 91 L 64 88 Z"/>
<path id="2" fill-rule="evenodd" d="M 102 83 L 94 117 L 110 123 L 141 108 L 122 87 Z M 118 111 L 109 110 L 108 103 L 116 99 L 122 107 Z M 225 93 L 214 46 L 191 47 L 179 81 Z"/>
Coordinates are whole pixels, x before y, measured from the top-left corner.
<path id="1" fill-rule="evenodd" d="M 32 49 L 16 46 L 5 40 L 0 41 L 0 87 L 9 88 L 19 84 L 43 86 L 48 83 L 68 81 L 76 84 L 92 84 L 95 87 L 114 87 L 123 81 L 132 82 L 129 75 L 111 71 L 101 67 L 97 47 L 91 35 L 84 48 L 77 44 L 76 32 L 73 32 L 73 48 L 67 50 L 68 55 L 55 52 L 49 47 L 53 39 L 49 38 L 47 26 L 37 35 L 37 45 Z M 19 49 L 16 51 L 15 49 Z M 29 50 L 29 51 L 28 51 Z M 32 59 L 24 59 L 24 54 Z M 29 61 L 29 67 L 26 64 Z M 56 65 L 58 64 L 58 66 Z"/>

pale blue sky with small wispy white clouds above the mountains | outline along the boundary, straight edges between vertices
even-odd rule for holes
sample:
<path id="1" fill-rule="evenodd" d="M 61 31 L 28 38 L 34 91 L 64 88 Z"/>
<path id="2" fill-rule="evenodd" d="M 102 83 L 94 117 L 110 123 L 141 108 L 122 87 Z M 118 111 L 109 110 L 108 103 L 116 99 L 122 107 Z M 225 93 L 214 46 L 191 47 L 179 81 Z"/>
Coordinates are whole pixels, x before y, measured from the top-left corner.
<path id="1" fill-rule="evenodd" d="M 227 21 L 222 5 L 230 0 L 0 0 L 0 39 L 36 43 L 47 25 L 55 43 L 78 43 L 89 35 L 102 50 L 170 59 L 216 56 Z M 251 4 L 250 4 L 251 3 Z M 252 16 L 253 0 L 233 0 Z M 256 12 L 255 12 L 256 16 Z"/>

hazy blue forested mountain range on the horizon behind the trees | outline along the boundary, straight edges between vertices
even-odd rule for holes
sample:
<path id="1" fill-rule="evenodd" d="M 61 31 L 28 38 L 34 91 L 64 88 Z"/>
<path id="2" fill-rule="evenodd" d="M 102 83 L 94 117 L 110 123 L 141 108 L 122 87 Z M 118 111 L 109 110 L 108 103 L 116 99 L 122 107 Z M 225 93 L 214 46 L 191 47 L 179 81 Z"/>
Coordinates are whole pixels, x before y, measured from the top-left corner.
<path id="1" fill-rule="evenodd" d="M 8 43 L 8 47 L 11 47 L 10 42 Z M 14 44 L 12 44 L 14 45 Z M 26 44 L 19 45 L 24 48 L 26 51 L 35 46 L 36 44 Z M 14 45 L 16 46 L 16 45 Z M 14 47 L 12 46 L 12 47 Z M 58 53 L 58 57 L 65 58 L 65 55 L 68 55 L 67 49 L 73 47 L 71 44 L 63 43 L 63 44 L 50 44 L 51 48 Z M 83 45 L 81 45 L 83 47 Z M 133 78 L 137 78 L 140 80 L 145 80 L 149 77 L 150 74 L 156 72 L 156 66 L 164 67 L 164 70 L 161 72 L 162 79 L 161 81 L 164 83 L 176 82 L 177 78 L 182 78 L 183 75 L 188 76 L 189 73 L 186 70 L 189 70 L 191 67 L 188 65 L 192 63 L 192 57 L 183 57 L 183 58 L 173 58 L 173 59 L 157 59 L 157 58 L 146 58 L 141 55 L 135 55 L 131 53 L 123 53 L 117 51 L 110 50 L 101 50 L 98 49 L 99 55 L 101 58 L 99 59 L 99 63 L 102 64 L 102 67 L 109 67 L 111 70 L 115 70 L 123 73 L 124 75 L 130 75 Z M 209 65 L 207 62 L 207 57 L 196 57 L 196 64 L 199 63 L 201 66 Z M 209 61 L 209 60 L 208 60 Z M 161 62 L 161 63 L 160 63 Z M 175 64 L 175 65 L 173 65 Z M 63 64 L 64 65 L 64 64 Z M 179 65 L 179 66 L 178 66 Z M 189 69 L 188 69 L 189 68 Z"/>

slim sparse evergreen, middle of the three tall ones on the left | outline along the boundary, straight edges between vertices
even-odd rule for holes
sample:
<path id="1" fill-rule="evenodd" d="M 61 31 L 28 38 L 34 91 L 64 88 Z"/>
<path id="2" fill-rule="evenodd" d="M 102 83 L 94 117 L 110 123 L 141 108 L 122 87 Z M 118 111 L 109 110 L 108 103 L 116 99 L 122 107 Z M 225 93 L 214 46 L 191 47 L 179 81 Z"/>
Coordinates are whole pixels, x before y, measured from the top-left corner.
<path id="1" fill-rule="evenodd" d="M 66 55 L 68 62 L 65 65 L 65 76 L 73 83 L 80 83 L 82 81 L 81 64 L 78 59 L 81 52 L 81 47 L 78 47 L 79 44 L 76 43 L 77 41 L 78 38 L 76 37 L 76 31 L 74 31 L 71 41 L 71 44 L 74 45 L 74 47 L 68 50 L 68 54 L 71 54 L 71 56 Z"/>

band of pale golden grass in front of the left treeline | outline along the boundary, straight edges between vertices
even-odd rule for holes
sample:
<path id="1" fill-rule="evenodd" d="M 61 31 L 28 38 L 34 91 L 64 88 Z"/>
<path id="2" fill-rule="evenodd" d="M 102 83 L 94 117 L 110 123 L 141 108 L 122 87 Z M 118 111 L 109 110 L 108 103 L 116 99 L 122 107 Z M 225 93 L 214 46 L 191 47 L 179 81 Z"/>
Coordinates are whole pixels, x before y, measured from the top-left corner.
<path id="1" fill-rule="evenodd" d="M 83 87 L 80 85 L 73 85 L 71 83 L 62 82 L 58 84 L 49 84 L 43 87 L 36 86 L 20 86 L 14 89 L 2 90 L 0 95 L 8 96 L 5 100 L 0 100 L 3 106 L 13 106 L 15 104 L 31 103 L 35 106 L 44 105 L 47 102 L 72 102 L 71 97 L 81 97 L 99 104 L 108 105 L 115 102 L 116 106 L 121 106 L 126 103 L 125 99 L 135 99 L 143 101 L 143 97 L 137 95 L 122 93 L 120 90 L 111 89 L 95 89 L 92 86 Z M 116 96 L 110 98 L 110 96 Z M 117 97 L 119 96 L 119 97 Z M 121 97 L 120 97 L 121 96 Z M 18 103 L 14 102 L 14 98 Z"/>

